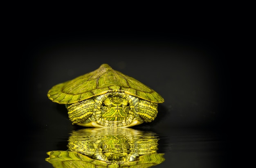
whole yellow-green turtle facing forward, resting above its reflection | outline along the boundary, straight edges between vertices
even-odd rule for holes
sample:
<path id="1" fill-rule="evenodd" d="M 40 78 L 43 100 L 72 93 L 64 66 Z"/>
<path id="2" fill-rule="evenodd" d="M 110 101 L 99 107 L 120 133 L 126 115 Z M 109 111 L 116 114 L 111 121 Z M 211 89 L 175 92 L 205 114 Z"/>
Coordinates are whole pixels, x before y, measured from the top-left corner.
<path id="1" fill-rule="evenodd" d="M 65 105 L 72 124 L 83 127 L 132 127 L 151 122 L 158 103 L 164 103 L 153 89 L 106 63 L 53 86 L 47 96 Z"/>

